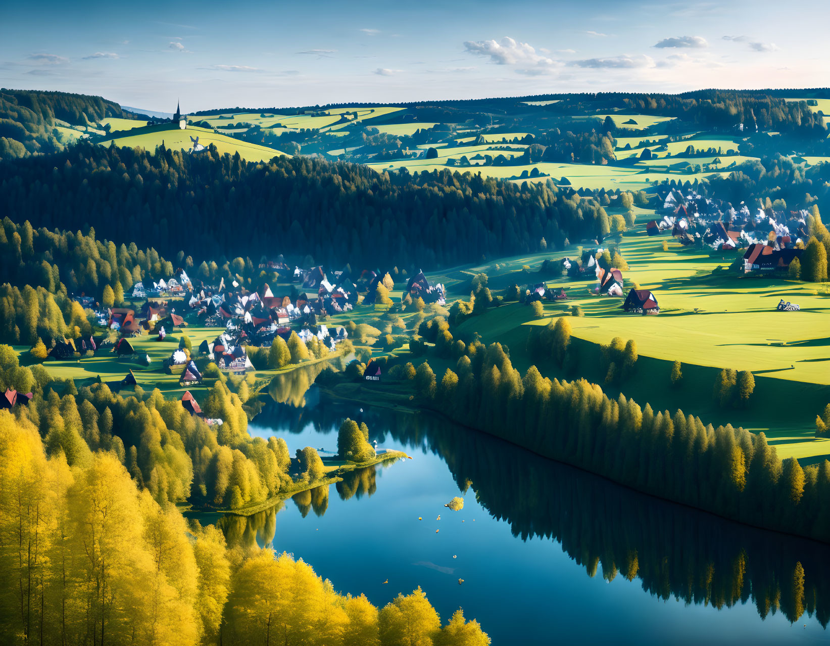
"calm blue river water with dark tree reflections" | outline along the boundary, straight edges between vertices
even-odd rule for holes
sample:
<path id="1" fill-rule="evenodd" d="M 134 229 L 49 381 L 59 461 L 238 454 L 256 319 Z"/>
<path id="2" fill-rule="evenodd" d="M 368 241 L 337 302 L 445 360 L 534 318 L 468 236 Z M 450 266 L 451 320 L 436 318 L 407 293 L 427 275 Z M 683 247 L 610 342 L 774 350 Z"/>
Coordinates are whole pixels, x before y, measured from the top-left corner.
<path id="1" fill-rule="evenodd" d="M 378 607 L 420 585 L 442 619 L 461 606 L 493 644 L 828 641 L 827 546 L 642 496 L 427 415 L 361 412 L 321 401 L 315 386 L 295 404 L 305 405 L 266 404 L 251 435 L 284 437 L 292 454 L 334 451 L 348 416 L 413 459 L 250 518 L 193 515 L 229 543 L 291 552 Z M 454 496 L 461 511 L 444 507 Z"/>

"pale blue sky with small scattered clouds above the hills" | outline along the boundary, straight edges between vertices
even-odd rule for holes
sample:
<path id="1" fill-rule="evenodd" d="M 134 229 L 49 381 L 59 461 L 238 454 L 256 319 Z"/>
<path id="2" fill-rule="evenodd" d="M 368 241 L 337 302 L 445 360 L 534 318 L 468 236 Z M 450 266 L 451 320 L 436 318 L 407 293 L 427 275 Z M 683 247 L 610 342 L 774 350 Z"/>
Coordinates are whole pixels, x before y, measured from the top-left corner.
<path id="1" fill-rule="evenodd" d="M 828 2 L 25 2 L 0 86 L 172 111 L 828 85 Z"/>

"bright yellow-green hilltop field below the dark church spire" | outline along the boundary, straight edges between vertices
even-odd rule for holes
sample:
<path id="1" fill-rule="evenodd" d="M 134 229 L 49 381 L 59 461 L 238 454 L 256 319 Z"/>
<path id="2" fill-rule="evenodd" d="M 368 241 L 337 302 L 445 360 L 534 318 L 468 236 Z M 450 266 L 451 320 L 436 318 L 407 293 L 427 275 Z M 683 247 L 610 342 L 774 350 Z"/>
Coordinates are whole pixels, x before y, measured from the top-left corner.
<path id="1" fill-rule="evenodd" d="M 247 141 L 233 139 L 227 135 L 217 135 L 212 130 L 198 128 L 194 125 L 188 125 L 186 130 L 180 130 L 178 127 L 171 125 L 151 125 L 138 130 L 141 130 L 138 134 L 110 137 L 102 141 L 101 144 L 109 145 L 110 141 L 115 141 L 117 146 L 139 147 L 152 151 L 156 149 L 156 146 L 164 143 L 169 149 L 189 150 L 193 146 L 190 138 L 198 136 L 199 143 L 204 144 L 205 147 L 214 144 L 219 154 L 239 153 L 242 159 L 246 161 L 268 161 L 285 154 L 276 149 L 258 144 L 249 144 Z"/>

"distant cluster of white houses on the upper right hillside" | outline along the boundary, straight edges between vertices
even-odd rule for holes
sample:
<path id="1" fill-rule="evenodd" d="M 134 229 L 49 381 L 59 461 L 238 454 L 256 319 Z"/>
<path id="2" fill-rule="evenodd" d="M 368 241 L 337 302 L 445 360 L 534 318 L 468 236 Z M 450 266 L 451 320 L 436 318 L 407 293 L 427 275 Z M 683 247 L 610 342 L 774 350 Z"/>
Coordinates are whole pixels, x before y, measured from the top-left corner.
<path id="1" fill-rule="evenodd" d="M 758 208 L 752 213 L 743 202 L 735 209 L 694 191 L 684 195 L 679 188 L 665 188 L 658 195 L 663 217 L 647 223 L 648 235 L 671 230 L 682 245 L 700 243 L 724 251 L 747 247 L 745 272 L 786 269 L 793 257 L 801 256 L 798 242 L 808 238 L 805 210 Z"/>

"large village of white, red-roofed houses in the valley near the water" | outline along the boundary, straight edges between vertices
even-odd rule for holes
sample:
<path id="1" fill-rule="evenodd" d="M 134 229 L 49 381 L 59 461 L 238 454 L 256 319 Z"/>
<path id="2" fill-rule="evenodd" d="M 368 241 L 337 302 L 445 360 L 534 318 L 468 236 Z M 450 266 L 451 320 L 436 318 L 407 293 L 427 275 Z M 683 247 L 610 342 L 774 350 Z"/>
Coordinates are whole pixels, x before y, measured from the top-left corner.
<path id="1" fill-rule="evenodd" d="M 393 308 L 388 272 L 365 269 L 353 278 L 348 266 L 328 272 L 321 266 L 290 267 L 282 257 L 264 260 L 257 269 L 274 279 L 259 290 L 233 279 L 194 281 L 178 268 L 166 280 L 135 283 L 118 307 L 104 308 L 89 296 L 73 296 L 88 312 L 93 332 L 57 340 L 48 350 L 46 366 L 86 366 L 89 371 L 76 376 L 79 386 L 100 381 L 113 392 L 137 386 L 183 390 L 185 409 L 203 417 L 198 405 L 203 394 L 198 392 L 217 378 L 248 379 L 257 388 L 268 384 L 278 372 L 267 363 L 276 339 L 303 345 L 306 351 L 300 354 L 310 361 L 342 355 L 352 360 L 351 343 L 343 350 L 349 326 L 355 326 L 351 319 L 383 316 Z M 398 308 L 422 311 L 446 304 L 444 286 L 427 281 L 423 272 L 398 281 L 398 290 L 403 288 Z M 252 355 L 261 360 L 252 361 Z M 381 368 L 370 356 L 367 360 L 365 379 L 378 382 Z M 280 367 L 296 365 L 286 360 Z M 11 408 L 24 399 L 9 390 L 0 406 Z M 222 419 L 205 421 L 222 424 Z"/>

